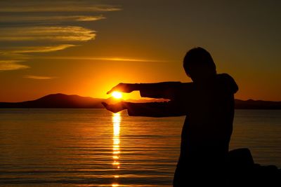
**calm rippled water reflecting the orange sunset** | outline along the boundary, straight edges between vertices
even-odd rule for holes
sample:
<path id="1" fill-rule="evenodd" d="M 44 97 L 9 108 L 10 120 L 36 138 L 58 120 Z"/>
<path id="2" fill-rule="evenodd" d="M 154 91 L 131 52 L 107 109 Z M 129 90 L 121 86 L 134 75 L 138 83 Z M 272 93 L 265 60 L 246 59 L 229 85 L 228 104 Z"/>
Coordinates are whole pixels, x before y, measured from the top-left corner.
<path id="1" fill-rule="evenodd" d="M 183 117 L 103 109 L 1 109 L 4 186 L 171 186 Z M 281 111 L 237 110 L 230 148 L 281 167 Z"/>

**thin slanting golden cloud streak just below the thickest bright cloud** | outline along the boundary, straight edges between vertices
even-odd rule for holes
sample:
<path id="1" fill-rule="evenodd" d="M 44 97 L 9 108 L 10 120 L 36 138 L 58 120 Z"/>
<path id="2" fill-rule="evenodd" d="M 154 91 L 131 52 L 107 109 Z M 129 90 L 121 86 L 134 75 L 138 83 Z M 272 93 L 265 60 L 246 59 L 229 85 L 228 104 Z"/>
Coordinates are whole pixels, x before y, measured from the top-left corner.
<path id="1" fill-rule="evenodd" d="M 72 44 L 62 44 L 62 45 L 57 45 L 57 46 L 28 46 L 25 48 L 6 48 L 6 50 L 1 51 L 0 53 L 3 54 L 15 54 L 15 53 L 48 53 L 48 52 L 53 52 L 56 50 L 64 50 L 66 48 L 74 47 L 76 45 Z"/>

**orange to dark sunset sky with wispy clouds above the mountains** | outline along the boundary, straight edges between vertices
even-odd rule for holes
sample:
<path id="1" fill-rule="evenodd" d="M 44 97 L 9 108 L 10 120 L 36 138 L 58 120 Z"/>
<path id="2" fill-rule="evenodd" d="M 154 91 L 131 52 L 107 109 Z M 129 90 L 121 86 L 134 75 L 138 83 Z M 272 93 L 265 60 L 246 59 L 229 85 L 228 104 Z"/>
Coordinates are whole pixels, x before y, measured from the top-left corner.
<path id="1" fill-rule="evenodd" d="M 183 57 L 196 46 L 235 78 L 235 98 L 281 101 L 280 9 L 273 0 L 0 1 L 0 102 L 190 82 Z"/>

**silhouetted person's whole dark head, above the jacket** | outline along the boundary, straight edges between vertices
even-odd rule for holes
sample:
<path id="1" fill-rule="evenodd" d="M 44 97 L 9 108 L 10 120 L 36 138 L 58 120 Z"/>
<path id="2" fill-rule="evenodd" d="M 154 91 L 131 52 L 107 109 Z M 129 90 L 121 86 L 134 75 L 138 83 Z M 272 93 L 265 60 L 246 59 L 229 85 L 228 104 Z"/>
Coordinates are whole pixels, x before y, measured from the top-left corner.
<path id="1" fill-rule="evenodd" d="M 216 75 L 216 64 L 210 53 L 204 48 L 192 48 L 183 60 L 185 73 L 192 81 L 204 81 Z"/>

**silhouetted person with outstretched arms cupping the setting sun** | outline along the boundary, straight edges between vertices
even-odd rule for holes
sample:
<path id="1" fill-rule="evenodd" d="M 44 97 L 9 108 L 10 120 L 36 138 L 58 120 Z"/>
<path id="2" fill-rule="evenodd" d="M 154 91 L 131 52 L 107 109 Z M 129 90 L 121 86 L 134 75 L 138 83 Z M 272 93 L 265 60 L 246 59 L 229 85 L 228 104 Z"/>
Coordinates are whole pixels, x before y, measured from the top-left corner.
<path id="1" fill-rule="evenodd" d="M 225 186 L 238 87 L 228 74 L 216 74 L 216 65 L 203 48 L 189 50 L 183 67 L 192 83 L 119 83 L 107 92 L 139 90 L 142 97 L 170 99 L 169 102 L 103 104 L 112 112 L 127 109 L 129 116 L 186 116 L 174 186 Z"/>

